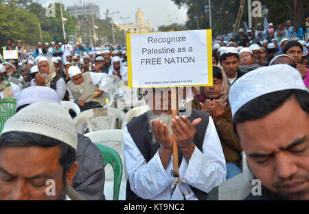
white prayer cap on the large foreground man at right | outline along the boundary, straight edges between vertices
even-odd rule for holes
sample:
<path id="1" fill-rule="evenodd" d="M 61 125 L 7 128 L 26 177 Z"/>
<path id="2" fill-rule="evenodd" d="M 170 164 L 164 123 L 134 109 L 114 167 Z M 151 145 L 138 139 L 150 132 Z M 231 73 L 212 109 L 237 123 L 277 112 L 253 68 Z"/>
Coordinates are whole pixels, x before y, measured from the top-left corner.
<path id="1" fill-rule="evenodd" d="M 232 116 L 252 99 L 288 89 L 308 91 L 297 69 L 288 64 L 261 67 L 242 75 L 229 90 Z"/>

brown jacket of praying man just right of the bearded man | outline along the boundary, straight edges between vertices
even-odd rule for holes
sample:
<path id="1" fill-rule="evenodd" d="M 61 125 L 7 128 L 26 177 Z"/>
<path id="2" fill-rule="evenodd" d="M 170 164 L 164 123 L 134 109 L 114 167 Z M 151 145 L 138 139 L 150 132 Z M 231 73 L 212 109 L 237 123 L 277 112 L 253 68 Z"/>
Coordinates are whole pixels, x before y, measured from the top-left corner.
<path id="1" fill-rule="evenodd" d="M 200 102 L 198 95 L 194 96 L 191 105 L 192 108 L 201 110 Z M 225 154 L 225 161 L 227 163 L 236 163 L 240 166 L 242 147 L 240 145 L 240 140 L 233 132 L 233 126 L 231 123 L 231 106 L 228 104 L 225 107 L 225 114 L 223 115 L 221 123 L 218 126 L 216 125 L 216 130 L 220 138 L 223 154 Z"/>

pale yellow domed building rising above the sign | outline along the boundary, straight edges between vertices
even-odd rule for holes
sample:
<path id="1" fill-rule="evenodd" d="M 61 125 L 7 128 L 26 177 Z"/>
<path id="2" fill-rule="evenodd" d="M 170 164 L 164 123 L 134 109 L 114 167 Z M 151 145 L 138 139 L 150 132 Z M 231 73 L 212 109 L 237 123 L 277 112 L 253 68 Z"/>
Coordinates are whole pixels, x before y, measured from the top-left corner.
<path id="1" fill-rule="evenodd" d="M 119 27 L 119 29 L 124 29 L 125 32 L 127 33 L 146 33 L 146 32 L 153 32 L 153 29 L 151 27 L 151 22 L 150 20 L 148 20 L 147 24 L 145 23 L 144 20 L 144 14 L 143 12 L 141 12 L 141 10 L 138 8 L 138 11 L 135 14 L 135 19 L 136 19 L 136 23 L 130 23 L 130 24 L 117 24 L 115 23 L 115 25 L 117 25 L 117 27 Z"/>

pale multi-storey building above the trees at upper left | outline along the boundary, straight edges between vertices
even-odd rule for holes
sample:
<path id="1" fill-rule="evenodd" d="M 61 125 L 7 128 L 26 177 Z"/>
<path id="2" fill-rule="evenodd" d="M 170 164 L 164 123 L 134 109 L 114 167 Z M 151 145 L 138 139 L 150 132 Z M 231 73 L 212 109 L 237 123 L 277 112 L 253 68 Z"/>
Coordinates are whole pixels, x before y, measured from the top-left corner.
<path id="1" fill-rule="evenodd" d="M 100 19 L 100 7 L 92 3 L 67 7 L 69 14 L 78 18 L 80 15 L 91 16 L 92 13 Z"/>

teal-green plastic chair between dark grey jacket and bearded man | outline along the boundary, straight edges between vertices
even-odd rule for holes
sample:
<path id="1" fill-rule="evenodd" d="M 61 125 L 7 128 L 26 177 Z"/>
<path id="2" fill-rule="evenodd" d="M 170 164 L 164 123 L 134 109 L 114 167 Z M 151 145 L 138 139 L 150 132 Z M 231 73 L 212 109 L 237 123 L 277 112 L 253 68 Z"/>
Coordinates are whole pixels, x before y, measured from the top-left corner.
<path id="1" fill-rule="evenodd" d="M 104 167 L 106 164 L 110 164 L 114 171 L 114 189 L 113 189 L 113 200 L 118 200 L 120 185 L 122 183 L 122 159 L 119 154 L 111 147 L 102 145 L 100 143 L 94 143 L 102 153 L 104 159 Z"/>

